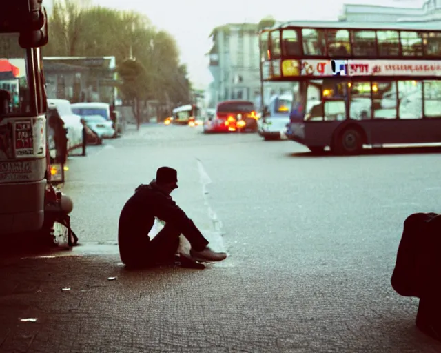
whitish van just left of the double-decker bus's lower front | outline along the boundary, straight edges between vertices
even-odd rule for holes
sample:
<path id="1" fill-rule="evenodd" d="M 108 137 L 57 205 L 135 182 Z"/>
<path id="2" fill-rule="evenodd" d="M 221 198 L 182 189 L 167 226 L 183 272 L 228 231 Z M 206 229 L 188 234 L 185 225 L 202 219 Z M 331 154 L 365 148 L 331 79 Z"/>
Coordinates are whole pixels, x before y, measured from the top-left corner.
<path id="1" fill-rule="evenodd" d="M 262 118 L 258 120 L 258 134 L 265 141 L 278 140 L 285 136 L 292 99 L 292 94 L 276 95 L 264 108 Z"/>

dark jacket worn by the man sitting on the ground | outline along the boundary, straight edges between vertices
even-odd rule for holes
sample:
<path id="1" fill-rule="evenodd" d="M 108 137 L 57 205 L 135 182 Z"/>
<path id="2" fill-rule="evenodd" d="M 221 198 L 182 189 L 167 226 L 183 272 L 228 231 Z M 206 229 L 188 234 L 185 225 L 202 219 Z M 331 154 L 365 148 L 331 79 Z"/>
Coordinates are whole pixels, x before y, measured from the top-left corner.
<path id="1" fill-rule="evenodd" d="M 176 205 L 170 195 L 162 192 L 156 182 L 152 181 L 148 185 L 139 185 L 121 211 L 118 243 L 123 262 L 148 243 L 148 233 L 153 227 L 155 217 L 183 234 L 194 250 L 203 250 L 207 246 L 208 241 L 193 221 Z"/>

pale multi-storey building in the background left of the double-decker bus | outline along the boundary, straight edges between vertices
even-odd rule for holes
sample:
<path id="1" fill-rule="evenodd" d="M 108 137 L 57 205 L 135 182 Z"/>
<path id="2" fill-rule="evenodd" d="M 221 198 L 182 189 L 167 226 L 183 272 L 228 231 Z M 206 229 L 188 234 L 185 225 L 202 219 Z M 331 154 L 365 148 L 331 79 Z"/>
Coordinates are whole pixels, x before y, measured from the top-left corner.
<path id="1" fill-rule="evenodd" d="M 209 85 L 208 106 L 229 99 L 254 101 L 260 110 L 260 52 L 257 23 L 229 23 L 212 30 L 213 46 L 209 55 L 209 70 L 213 81 Z M 264 89 L 265 97 L 290 88 L 291 83 L 276 83 Z M 265 102 L 268 100 L 265 99 Z"/>

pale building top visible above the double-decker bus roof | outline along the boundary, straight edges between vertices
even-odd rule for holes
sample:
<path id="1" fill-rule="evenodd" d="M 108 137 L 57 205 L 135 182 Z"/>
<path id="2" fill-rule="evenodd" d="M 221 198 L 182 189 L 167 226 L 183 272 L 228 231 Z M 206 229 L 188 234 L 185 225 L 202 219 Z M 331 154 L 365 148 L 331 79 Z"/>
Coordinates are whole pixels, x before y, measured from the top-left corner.
<path id="1" fill-rule="evenodd" d="M 389 23 L 441 21 L 441 0 L 428 0 L 420 8 L 345 4 L 338 20 Z"/>

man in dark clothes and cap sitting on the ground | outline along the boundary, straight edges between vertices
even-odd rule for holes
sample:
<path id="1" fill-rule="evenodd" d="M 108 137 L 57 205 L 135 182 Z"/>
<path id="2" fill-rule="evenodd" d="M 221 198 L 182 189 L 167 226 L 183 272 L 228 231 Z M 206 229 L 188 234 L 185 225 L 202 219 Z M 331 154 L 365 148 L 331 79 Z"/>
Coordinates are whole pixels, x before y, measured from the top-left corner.
<path id="1" fill-rule="evenodd" d="M 126 266 L 143 268 L 179 261 L 183 267 L 205 268 L 200 262 L 227 258 L 224 252 L 214 252 L 208 247 L 207 239 L 173 201 L 170 193 L 178 188 L 177 183 L 175 169 L 158 168 L 156 179 L 148 185 L 139 185 L 125 203 L 119 217 L 118 243 L 121 261 Z M 155 217 L 166 224 L 150 239 L 148 233 Z M 192 245 L 190 256 L 176 254 L 181 234 Z"/>

